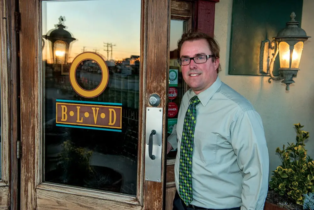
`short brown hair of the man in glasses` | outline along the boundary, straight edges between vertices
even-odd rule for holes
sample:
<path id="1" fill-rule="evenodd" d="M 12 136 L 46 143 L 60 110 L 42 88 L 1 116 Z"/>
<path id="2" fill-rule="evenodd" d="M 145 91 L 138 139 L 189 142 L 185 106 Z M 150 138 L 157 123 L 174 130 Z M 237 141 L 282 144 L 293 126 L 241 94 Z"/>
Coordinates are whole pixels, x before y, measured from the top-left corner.
<path id="1" fill-rule="evenodd" d="M 181 47 L 182 47 L 183 42 L 195 41 L 195 40 L 200 40 L 200 39 L 204 39 L 207 41 L 210 51 L 215 56 L 215 57 L 213 57 L 213 60 L 212 60 L 214 63 L 216 58 L 219 58 L 219 51 L 220 51 L 219 45 L 214 38 L 208 36 L 205 33 L 200 33 L 200 32 L 189 31 L 187 33 L 182 34 L 181 39 L 178 41 L 179 58 L 180 58 Z M 219 71 L 221 71 L 220 63 L 219 63 L 218 68 L 217 68 L 217 74 Z"/>

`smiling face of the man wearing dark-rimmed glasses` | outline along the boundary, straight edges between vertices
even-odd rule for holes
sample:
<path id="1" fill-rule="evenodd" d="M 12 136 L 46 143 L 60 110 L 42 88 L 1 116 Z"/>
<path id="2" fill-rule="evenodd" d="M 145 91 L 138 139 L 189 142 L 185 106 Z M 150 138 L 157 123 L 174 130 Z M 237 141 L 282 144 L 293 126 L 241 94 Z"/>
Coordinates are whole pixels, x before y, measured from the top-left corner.
<path id="1" fill-rule="evenodd" d="M 180 52 L 181 58 L 193 58 L 199 55 L 212 55 L 205 39 L 183 42 Z M 218 65 L 218 58 L 214 62 L 213 58 L 208 58 L 202 64 L 197 64 L 191 59 L 190 64 L 181 66 L 183 79 L 195 94 L 198 94 L 215 82 Z"/>

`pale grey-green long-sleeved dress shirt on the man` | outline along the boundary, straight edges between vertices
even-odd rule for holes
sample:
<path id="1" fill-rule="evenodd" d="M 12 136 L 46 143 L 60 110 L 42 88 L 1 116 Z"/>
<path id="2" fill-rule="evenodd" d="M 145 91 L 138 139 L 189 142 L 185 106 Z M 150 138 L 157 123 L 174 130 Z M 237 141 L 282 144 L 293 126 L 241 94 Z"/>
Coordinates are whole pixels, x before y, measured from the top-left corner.
<path id="1" fill-rule="evenodd" d="M 191 89 L 181 101 L 169 143 L 178 149 L 175 163 L 179 187 L 180 145 Z M 262 210 L 268 191 L 269 158 L 262 119 L 252 104 L 221 82 L 198 94 L 192 158 L 192 205 L 222 209 Z"/>

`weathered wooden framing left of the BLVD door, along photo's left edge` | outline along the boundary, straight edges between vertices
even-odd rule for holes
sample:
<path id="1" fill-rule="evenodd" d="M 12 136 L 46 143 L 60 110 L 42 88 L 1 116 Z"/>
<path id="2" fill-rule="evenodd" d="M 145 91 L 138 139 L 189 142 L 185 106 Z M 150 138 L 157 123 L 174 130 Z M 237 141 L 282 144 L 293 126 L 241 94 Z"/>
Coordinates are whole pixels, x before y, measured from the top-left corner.
<path id="1" fill-rule="evenodd" d="M 3 141 L 3 181 L 0 206 L 5 209 L 18 209 L 19 173 L 16 145 L 19 140 L 19 85 L 18 85 L 18 51 L 17 27 L 14 18 L 16 1 L 1 0 L 1 111 Z M 4 35 L 4 36 L 3 36 Z M 7 189 L 8 191 L 3 191 Z"/>

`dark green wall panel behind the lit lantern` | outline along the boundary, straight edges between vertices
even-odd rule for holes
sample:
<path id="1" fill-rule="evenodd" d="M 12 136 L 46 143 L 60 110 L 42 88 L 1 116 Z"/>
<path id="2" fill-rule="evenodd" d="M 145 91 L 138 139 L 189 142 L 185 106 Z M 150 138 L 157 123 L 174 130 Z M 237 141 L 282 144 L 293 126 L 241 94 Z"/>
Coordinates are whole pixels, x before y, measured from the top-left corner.
<path id="1" fill-rule="evenodd" d="M 295 12 L 295 20 L 301 26 L 302 5 L 303 0 L 233 0 L 229 74 L 262 75 L 259 69 L 262 41 L 273 40 L 290 21 L 291 12 Z M 274 75 L 278 75 L 278 68 L 279 56 Z"/>

